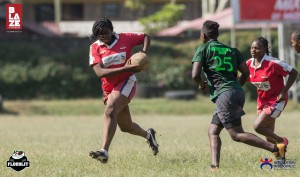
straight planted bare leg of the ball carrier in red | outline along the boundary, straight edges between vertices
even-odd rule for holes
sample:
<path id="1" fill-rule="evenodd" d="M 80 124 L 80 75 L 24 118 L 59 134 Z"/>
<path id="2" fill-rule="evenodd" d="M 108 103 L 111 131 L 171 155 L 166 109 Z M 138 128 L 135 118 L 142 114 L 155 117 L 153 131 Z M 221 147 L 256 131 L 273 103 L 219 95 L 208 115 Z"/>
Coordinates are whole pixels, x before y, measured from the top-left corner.
<path id="1" fill-rule="evenodd" d="M 102 148 L 109 149 L 110 143 L 117 129 L 117 115 L 128 105 L 128 98 L 119 92 L 112 92 L 108 96 L 104 112 Z"/>

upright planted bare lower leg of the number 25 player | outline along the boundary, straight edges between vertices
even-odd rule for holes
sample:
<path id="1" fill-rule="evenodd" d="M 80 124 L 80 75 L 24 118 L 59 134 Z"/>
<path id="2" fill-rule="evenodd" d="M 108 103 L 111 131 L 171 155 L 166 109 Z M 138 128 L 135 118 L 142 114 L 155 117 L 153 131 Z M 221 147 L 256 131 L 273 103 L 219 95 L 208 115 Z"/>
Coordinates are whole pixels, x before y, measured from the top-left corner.
<path id="1" fill-rule="evenodd" d="M 210 152 L 211 152 L 211 164 L 219 166 L 220 155 L 221 155 L 221 145 L 222 141 L 220 138 L 220 133 L 223 127 L 219 127 L 215 124 L 210 124 L 208 130 L 208 137 L 210 141 Z"/>

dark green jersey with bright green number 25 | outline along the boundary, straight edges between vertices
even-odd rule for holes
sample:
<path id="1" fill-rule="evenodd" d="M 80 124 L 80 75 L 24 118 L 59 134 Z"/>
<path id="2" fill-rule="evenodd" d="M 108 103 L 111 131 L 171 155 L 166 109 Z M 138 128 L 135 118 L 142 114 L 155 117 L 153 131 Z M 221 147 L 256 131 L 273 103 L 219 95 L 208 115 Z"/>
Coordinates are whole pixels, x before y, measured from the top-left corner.
<path id="1" fill-rule="evenodd" d="M 219 94 L 232 88 L 242 89 L 237 81 L 237 67 L 245 60 L 240 51 L 217 40 L 201 45 L 192 62 L 200 62 L 208 80 L 210 98 L 213 102 Z"/>

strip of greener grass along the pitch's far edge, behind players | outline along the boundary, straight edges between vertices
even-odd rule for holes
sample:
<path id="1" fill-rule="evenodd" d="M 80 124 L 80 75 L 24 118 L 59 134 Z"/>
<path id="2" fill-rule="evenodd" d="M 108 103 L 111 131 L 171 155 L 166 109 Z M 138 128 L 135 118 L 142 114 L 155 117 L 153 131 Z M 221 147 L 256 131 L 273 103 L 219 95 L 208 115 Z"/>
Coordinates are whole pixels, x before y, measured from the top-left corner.
<path id="1" fill-rule="evenodd" d="M 5 101 L 6 113 L 16 115 L 100 115 L 105 108 L 102 99 L 79 100 L 17 100 Z M 195 100 L 168 100 L 164 98 L 135 98 L 130 109 L 135 114 L 198 115 L 210 114 L 215 106 L 208 97 L 198 96 Z M 300 104 L 289 102 L 286 111 L 300 111 Z M 246 102 L 246 113 L 255 113 L 256 103 Z"/>

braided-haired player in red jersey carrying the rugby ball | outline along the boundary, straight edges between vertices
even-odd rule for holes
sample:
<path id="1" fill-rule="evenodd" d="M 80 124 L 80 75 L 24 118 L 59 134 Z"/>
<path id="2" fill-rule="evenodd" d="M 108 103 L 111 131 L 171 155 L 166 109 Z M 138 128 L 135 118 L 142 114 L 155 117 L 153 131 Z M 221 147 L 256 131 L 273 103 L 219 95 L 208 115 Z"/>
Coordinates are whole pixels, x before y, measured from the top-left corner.
<path id="1" fill-rule="evenodd" d="M 136 90 L 134 73 L 141 68 L 131 64 L 130 57 L 134 46 L 142 46 L 140 52 L 147 53 L 150 37 L 145 33 L 115 33 L 112 22 L 104 17 L 96 21 L 92 28 L 89 64 L 95 74 L 101 78 L 103 99 L 106 105 L 103 119 L 102 147 L 91 151 L 90 156 L 106 163 L 108 150 L 116 132 L 117 125 L 123 132 L 147 139 L 153 154 L 158 153 L 155 131 L 147 131 L 132 122 L 129 102 Z"/>

